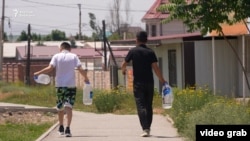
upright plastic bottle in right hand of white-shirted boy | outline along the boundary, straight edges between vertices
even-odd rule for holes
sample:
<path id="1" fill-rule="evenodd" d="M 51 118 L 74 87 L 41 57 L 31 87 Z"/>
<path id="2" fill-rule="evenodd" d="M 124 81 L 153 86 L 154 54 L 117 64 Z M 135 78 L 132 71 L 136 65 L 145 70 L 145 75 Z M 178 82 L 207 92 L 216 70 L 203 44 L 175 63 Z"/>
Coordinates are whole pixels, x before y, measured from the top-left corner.
<path id="1" fill-rule="evenodd" d="M 93 89 L 90 83 L 85 83 L 83 87 L 83 104 L 91 105 L 93 102 Z"/>

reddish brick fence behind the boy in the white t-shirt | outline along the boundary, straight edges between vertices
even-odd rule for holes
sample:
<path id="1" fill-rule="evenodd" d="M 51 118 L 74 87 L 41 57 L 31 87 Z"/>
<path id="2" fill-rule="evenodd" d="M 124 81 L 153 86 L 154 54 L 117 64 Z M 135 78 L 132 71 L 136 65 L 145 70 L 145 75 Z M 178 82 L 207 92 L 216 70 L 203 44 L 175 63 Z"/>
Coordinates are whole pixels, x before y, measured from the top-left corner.
<path id="1" fill-rule="evenodd" d="M 39 71 L 46 67 L 47 64 L 31 64 L 30 65 L 30 84 L 35 85 L 35 81 L 33 79 L 33 74 L 36 71 Z M 54 72 L 49 74 L 54 80 Z M 80 75 L 80 73 L 76 70 L 76 86 L 83 87 L 84 86 L 84 79 Z M 110 82 L 110 72 L 103 71 L 103 70 L 90 70 L 87 73 L 90 83 L 94 88 L 97 89 L 110 89 L 111 82 Z M 5 82 L 24 82 L 25 83 L 25 76 L 26 76 L 26 65 L 21 63 L 6 63 L 3 64 L 3 80 Z M 51 85 L 54 84 L 52 81 Z"/>

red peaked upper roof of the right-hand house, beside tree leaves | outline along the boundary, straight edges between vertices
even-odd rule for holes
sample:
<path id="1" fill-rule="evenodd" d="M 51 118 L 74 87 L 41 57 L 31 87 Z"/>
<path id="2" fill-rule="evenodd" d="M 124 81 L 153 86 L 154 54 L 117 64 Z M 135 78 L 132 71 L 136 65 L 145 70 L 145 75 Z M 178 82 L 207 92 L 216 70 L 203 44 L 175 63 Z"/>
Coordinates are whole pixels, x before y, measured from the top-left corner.
<path id="1" fill-rule="evenodd" d="M 147 13 L 143 16 L 142 21 L 150 19 L 165 19 L 169 16 L 168 13 L 158 12 L 156 9 L 162 5 L 168 3 L 168 0 L 156 0 Z"/>

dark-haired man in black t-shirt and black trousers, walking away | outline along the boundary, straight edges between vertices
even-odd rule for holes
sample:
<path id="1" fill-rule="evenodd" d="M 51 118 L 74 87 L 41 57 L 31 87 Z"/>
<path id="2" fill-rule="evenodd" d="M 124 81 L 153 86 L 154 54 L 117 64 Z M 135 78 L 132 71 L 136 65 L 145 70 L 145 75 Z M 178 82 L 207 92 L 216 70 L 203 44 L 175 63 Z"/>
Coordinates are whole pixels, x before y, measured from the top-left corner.
<path id="1" fill-rule="evenodd" d="M 138 32 L 136 35 L 136 47 L 129 50 L 122 63 L 122 72 L 126 75 L 126 66 L 132 61 L 134 97 L 140 124 L 143 129 L 142 137 L 150 136 L 150 127 L 153 119 L 154 79 L 152 69 L 162 84 L 166 82 L 157 65 L 158 61 L 154 51 L 146 46 L 147 40 L 147 32 Z"/>

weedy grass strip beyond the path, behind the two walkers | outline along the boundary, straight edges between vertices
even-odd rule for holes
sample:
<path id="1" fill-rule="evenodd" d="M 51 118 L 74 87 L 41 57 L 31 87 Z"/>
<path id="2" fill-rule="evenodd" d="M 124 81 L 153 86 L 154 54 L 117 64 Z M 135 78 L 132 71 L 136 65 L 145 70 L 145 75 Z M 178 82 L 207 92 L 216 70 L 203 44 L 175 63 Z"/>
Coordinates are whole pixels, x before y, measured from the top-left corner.
<path id="1" fill-rule="evenodd" d="M 25 86 L 20 84 L 3 85 L 0 88 L 0 101 L 28 104 L 43 107 L 55 107 L 56 94 L 52 86 Z M 93 104 L 84 105 L 83 91 L 77 89 L 74 110 L 94 113 L 136 114 L 132 93 L 122 87 L 115 90 L 94 90 Z M 4 97 L 4 98 L 1 98 Z M 161 109 L 161 97 L 155 93 L 154 108 Z"/>

